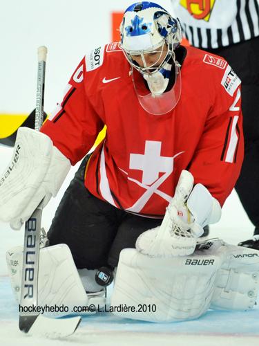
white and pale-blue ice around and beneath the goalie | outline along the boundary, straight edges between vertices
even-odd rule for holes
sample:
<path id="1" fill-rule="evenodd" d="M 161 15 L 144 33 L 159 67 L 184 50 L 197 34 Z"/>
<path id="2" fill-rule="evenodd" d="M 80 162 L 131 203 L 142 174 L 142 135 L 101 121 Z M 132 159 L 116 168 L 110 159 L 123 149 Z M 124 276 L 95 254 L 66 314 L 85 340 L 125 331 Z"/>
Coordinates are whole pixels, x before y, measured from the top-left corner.
<path id="1" fill-rule="evenodd" d="M 8 164 L 12 150 L 0 146 L 0 170 Z M 48 229 L 57 203 L 77 167 L 56 199 L 44 209 L 42 224 Z M 64 340 L 46 340 L 22 334 L 18 328 L 18 309 L 7 276 L 6 251 L 23 243 L 23 231 L 13 231 L 0 222 L 0 345 L 173 345 L 173 346 L 244 346 L 259 345 L 259 308 L 247 312 L 208 311 L 198 320 L 155 324 L 122 319 L 111 313 L 83 318 L 73 336 Z M 211 236 L 237 244 L 251 237 L 253 226 L 233 192 L 223 208 L 221 221 L 211 227 Z"/>

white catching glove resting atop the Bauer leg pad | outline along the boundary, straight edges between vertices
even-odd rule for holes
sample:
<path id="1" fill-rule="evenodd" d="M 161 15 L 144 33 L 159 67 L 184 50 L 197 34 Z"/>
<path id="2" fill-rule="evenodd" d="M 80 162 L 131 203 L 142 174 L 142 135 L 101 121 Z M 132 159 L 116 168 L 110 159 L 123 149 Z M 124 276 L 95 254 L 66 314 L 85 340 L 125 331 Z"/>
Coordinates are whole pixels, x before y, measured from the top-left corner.
<path id="1" fill-rule="evenodd" d="M 193 181 L 193 175 L 183 170 L 161 226 L 137 238 L 137 251 L 150 257 L 191 255 L 203 227 L 220 220 L 220 203 L 204 185 L 193 188 Z"/>

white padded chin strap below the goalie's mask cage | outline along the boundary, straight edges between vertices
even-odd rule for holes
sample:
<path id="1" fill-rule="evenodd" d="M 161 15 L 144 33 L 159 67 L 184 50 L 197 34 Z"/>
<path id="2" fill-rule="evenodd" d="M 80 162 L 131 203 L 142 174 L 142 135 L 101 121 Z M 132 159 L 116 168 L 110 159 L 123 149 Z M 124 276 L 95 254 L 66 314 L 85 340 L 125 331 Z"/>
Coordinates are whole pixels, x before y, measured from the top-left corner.
<path id="1" fill-rule="evenodd" d="M 143 77 L 148 83 L 148 88 L 153 96 L 159 96 L 166 90 L 169 84 L 171 68 L 172 64 L 166 62 L 163 68 L 155 73 L 143 73 Z"/>

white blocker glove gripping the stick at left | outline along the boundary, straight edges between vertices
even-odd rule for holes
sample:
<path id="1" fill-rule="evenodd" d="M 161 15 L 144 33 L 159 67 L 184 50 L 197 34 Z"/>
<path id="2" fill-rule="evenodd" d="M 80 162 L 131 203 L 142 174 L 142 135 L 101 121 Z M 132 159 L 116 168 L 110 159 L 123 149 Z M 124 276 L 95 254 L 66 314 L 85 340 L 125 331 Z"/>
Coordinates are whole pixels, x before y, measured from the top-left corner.
<path id="1" fill-rule="evenodd" d="M 11 161 L 0 176 L 1 221 L 21 228 L 42 199 L 46 206 L 56 196 L 70 166 L 46 134 L 20 127 Z"/>

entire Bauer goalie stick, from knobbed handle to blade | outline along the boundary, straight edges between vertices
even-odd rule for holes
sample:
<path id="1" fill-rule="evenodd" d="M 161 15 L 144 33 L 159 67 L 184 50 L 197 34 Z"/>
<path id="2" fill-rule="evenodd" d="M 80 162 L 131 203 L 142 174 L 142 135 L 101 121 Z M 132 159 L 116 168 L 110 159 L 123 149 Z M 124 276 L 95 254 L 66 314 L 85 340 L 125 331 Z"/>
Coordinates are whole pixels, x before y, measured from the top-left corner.
<path id="1" fill-rule="evenodd" d="M 44 119 L 44 81 L 47 48 L 38 48 L 37 98 L 35 129 L 39 131 Z M 39 237 L 41 233 L 41 215 L 44 203 L 39 203 L 32 216 L 26 221 L 23 245 L 23 267 L 21 280 L 21 300 L 19 305 L 19 329 L 25 333 L 48 337 L 64 337 L 73 334 L 81 318 L 46 318 L 39 314 L 38 271 Z"/>

